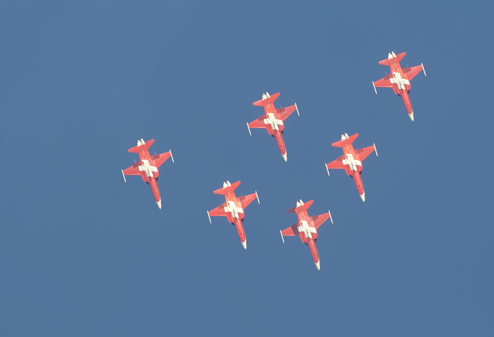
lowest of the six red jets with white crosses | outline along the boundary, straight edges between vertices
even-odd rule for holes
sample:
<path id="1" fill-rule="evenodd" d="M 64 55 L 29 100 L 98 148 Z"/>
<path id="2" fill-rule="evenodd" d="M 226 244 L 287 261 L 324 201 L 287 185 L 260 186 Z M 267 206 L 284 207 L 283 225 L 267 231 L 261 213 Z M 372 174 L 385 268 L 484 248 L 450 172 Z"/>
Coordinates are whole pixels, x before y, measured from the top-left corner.
<path id="1" fill-rule="evenodd" d="M 299 235 L 300 240 L 304 244 L 307 244 L 309 249 L 311 249 L 312 259 L 314 260 L 315 266 L 320 270 L 320 259 L 318 248 L 315 247 L 315 242 L 318 241 L 318 228 L 320 225 L 327 220 L 327 218 L 331 219 L 331 223 L 333 223 L 333 219 L 331 218 L 330 211 L 321 215 L 308 216 L 307 209 L 311 207 L 314 201 L 307 201 L 303 203 L 303 201 L 299 200 L 296 202 L 296 207 L 290 208 L 287 213 L 296 213 L 299 217 L 299 221 L 294 223 L 286 230 L 280 230 L 282 233 L 282 240 L 284 243 L 284 236 L 296 236 Z"/>

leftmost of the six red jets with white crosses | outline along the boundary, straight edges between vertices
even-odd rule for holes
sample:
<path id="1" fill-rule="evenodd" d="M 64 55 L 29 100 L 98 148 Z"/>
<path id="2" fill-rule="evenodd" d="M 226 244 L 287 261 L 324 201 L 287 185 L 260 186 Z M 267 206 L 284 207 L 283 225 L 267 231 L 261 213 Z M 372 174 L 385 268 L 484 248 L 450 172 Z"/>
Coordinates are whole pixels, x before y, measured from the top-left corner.
<path id="1" fill-rule="evenodd" d="M 141 138 L 137 141 L 137 146 L 128 149 L 128 152 L 139 153 L 140 160 L 131 167 L 122 170 L 122 175 L 124 182 L 127 182 L 125 179 L 126 175 L 140 175 L 140 177 L 150 185 L 152 196 L 155 197 L 155 201 L 159 209 L 161 209 L 161 196 L 159 196 L 157 184 L 159 177 L 158 167 L 170 157 L 172 162 L 174 162 L 174 160 L 173 155 L 171 155 L 171 150 L 159 155 L 150 155 L 149 148 L 152 146 L 152 143 L 155 143 L 154 139 L 145 142 L 144 139 Z"/>

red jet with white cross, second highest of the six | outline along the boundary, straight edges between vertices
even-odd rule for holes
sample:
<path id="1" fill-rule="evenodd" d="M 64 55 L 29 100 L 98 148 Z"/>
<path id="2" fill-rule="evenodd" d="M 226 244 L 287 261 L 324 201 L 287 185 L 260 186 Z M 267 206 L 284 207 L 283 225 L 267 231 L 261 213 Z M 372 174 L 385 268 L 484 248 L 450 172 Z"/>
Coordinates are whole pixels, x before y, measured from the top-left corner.
<path id="1" fill-rule="evenodd" d="M 276 138 L 279 152 L 282 153 L 284 161 L 287 161 L 287 148 L 284 146 L 283 141 L 283 121 L 289 117 L 289 115 L 296 110 L 299 114 L 299 108 L 295 105 L 289 107 L 280 107 L 275 109 L 275 100 L 278 98 L 279 93 L 270 95 L 269 93 L 263 94 L 263 99 L 253 102 L 253 105 L 264 107 L 264 116 L 255 119 L 255 121 L 247 123 L 248 133 L 251 134 L 251 128 L 253 129 L 266 129 L 267 133 Z M 299 114 L 300 116 L 300 114 Z M 252 136 L 252 134 L 251 134 Z"/>

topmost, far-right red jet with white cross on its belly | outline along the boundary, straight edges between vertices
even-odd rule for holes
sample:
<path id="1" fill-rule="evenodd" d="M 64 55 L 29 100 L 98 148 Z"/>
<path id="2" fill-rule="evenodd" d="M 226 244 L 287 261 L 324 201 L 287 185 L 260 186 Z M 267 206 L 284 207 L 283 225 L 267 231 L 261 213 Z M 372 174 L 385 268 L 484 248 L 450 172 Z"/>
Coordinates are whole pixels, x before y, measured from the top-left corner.
<path id="1" fill-rule="evenodd" d="M 423 69 L 423 64 L 420 66 L 412 66 L 410 68 L 402 69 L 402 66 L 399 65 L 399 61 L 401 61 L 405 57 L 406 53 L 402 54 L 394 54 L 394 52 L 390 52 L 387 54 L 387 59 L 383 59 L 379 61 L 379 64 L 383 66 L 390 66 L 391 73 L 384 78 L 381 78 L 379 81 L 373 82 L 375 94 L 378 94 L 378 90 L 375 90 L 375 87 L 383 87 L 383 88 L 393 88 L 393 91 L 398 96 L 402 97 L 403 104 L 405 105 L 406 112 L 411 119 L 411 122 L 414 122 L 414 109 L 411 107 L 411 102 L 409 98 L 410 93 L 410 81 L 412 78 L 416 76 L 417 73 L 423 71 L 423 74 L 427 76 L 426 69 Z"/>

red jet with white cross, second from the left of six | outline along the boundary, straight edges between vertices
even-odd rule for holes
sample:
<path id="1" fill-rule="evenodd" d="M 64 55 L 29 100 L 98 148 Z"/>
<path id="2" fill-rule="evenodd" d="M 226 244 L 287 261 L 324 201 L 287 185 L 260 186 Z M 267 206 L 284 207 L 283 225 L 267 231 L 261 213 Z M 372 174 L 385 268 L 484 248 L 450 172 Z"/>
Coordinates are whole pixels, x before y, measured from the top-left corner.
<path id="1" fill-rule="evenodd" d="M 260 202 L 257 191 L 253 194 L 249 194 L 248 196 L 236 197 L 234 190 L 239 187 L 239 185 L 240 180 L 238 182 L 234 182 L 233 184 L 230 184 L 227 180 L 223 183 L 223 187 L 221 189 L 214 191 L 215 194 L 223 194 L 225 202 L 212 211 L 207 211 L 207 217 L 210 219 L 211 223 L 212 216 L 226 216 L 229 222 L 235 226 L 243 248 L 247 249 L 246 232 L 243 230 L 242 225 L 244 217 L 243 209 L 246 208 L 249 203 L 254 201 L 254 199 L 258 199 L 258 203 Z"/>

